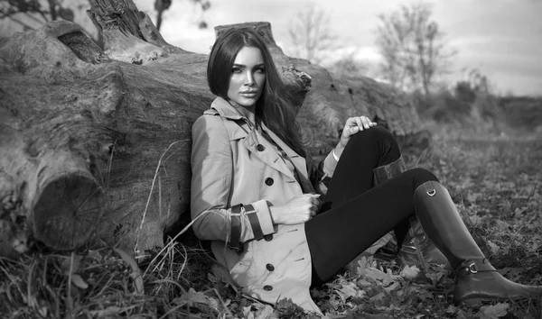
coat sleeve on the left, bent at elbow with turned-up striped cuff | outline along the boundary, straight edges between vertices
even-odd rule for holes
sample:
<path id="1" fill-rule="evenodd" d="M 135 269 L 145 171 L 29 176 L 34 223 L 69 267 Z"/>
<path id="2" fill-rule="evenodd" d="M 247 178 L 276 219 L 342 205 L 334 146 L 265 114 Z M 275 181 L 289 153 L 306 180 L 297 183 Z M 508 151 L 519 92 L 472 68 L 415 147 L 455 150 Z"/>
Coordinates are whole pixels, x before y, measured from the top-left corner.
<path id="1" fill-rule="evenodd" d="M 192 228 L 202 240 L 242 242 L 275 232 L 266 200 L 232 203 L 233 160 L 220 116 L 202 115 L 192 126 Z"/>

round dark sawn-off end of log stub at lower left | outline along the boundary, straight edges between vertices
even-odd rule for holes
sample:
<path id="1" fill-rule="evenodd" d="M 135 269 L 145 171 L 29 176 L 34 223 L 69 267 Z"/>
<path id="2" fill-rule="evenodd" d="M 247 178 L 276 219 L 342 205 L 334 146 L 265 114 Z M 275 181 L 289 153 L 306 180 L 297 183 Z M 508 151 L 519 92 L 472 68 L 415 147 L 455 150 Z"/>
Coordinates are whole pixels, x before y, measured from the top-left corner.
<path id="1" fill-rule="evenodd" d="M 55 178 L 34 205 L 34 236 L 47 246 L 71 250 L 89 240 L 103 213 L 104 191 L 86 174 Z"/>

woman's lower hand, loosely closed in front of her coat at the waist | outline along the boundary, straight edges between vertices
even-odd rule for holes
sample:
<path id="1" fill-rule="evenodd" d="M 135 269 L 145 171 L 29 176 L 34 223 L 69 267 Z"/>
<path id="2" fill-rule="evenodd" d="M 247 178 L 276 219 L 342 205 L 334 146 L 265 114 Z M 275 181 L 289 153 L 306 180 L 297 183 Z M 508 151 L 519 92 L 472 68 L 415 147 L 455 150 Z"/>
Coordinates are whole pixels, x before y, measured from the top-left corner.
<path id="1" fill-rule="evenodd" d="M 320 194 L 304 194 L 295 196 L 285 205 L 269 206 L 274 223 L 295 224 L 306 223 L 318 212 Z"/>

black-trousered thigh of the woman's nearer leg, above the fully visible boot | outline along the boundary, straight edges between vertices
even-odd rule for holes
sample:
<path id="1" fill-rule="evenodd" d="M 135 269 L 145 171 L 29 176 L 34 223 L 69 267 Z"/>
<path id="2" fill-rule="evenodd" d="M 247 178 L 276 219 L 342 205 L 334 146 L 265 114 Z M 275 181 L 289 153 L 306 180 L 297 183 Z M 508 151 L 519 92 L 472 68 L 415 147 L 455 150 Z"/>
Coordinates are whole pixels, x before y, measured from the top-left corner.
<path id="1" fill-rule="evenodd" d="M 373 242 L 414 214 L 414 192 L 429 180 L 438 181 L 428 170 L 407 170 L 340 205 L 333 205 L 305 223 L 318 278 L 323 281 L 332 278 Z M 334 189 L 340 192 L 348 187 L 352 187 L 351 183 L 345 182 Z"/>

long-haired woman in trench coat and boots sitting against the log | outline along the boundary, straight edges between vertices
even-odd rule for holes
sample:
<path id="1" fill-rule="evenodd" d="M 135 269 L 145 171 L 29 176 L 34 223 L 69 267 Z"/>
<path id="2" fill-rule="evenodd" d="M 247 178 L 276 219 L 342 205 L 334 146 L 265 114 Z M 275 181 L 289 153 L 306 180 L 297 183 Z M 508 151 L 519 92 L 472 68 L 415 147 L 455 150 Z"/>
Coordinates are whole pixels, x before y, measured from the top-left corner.
<path id="1" fill-rule="evenodd" d="M 500 276 L 435 175 L 401 173 L 397 142 L 365 116 L 346 121 L 312 182 L 293 107 L 257 32 L 223 33 L 207 76 L 218 97 L 192 127 L 193 229 L 212 241 L 217 260 L 248 295 L 268 303 L 290 297 L 320 313 L 309 287 L 416 216 L 455 270 L 456 300 L 542 296 L 542 287 Z"/>

